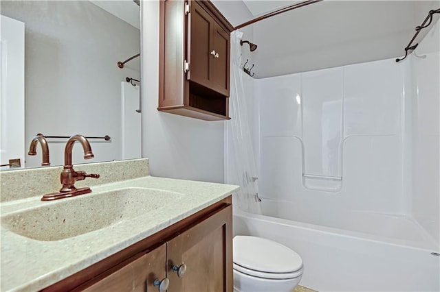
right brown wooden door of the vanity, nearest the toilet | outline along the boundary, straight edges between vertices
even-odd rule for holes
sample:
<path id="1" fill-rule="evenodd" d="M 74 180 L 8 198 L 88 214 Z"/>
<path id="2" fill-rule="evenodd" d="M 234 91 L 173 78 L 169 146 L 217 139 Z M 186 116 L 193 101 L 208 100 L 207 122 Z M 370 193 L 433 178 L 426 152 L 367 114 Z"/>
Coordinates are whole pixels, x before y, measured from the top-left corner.
<path id="1" fill-rule="evenodd" d="M 214 212 L 166 245 L 168 292 L 233 290 L 231 205 Z M 175 270 L 182 265 L 186 265 L 186 272 L 179 276 Z"/>

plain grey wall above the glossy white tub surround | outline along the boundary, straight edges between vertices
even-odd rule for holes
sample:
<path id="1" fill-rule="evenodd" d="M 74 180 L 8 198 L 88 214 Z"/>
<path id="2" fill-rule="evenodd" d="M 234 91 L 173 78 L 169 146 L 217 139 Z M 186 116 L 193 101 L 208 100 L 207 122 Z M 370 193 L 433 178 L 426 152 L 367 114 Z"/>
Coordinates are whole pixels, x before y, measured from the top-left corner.
<path id="1" fill-rule="evenodd" d="M 440 1 L 321 1 L 255 23 L 256 77 L 404 56 Z M 437 19 L 439 14 L 434 14 Z M 426 30 L 416 39 L 419 42 Z"/>

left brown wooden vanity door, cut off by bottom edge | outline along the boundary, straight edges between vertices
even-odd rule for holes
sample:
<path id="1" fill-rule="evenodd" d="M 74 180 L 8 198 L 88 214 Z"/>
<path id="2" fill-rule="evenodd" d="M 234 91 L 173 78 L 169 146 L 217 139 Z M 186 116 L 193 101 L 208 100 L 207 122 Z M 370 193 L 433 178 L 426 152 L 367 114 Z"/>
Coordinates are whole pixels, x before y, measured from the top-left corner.
<path id="1" fill-rule="evenodd" d="M 111 273 L 106 278 L 96 282 L 84 291 L 159 291 L 154 286 L 154 280 L 166 278 L 166 245 L 160 245 L 151 252 L 139 255 L 139 258 L 129 262 L 124 267 Z"/>

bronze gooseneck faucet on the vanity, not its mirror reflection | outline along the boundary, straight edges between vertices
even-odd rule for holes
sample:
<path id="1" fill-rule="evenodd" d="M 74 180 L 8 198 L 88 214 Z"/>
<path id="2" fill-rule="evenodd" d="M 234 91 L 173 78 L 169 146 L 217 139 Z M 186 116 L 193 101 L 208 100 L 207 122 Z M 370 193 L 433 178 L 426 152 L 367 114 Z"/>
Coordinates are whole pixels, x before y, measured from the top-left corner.
<path id="1" fill-rule="evenodd" d="M 76 188 L 75 182 L 78 180 L 85 180 L 85 178 L 99 178 L 99 174 L 87 174 L 85 171 L 75 171 L 72 165 L 72 149 L 75 141 L 78 141 L 84 150 L 84 159 L 94 158 L 94 154 L 91 151 L 90 143 L 83 135 L 74 135 L 69 138 L 64 149 L 64 167 L 61 172 L 61 184 L 63 187 L 58 193 L 50 193 L 43 195 L 41 201 L 51 201 L 54 199 L 62 199 L 63 197 L 74 197 L 77 195 L 83 195 L 91 193 L 90 188 Z"/>

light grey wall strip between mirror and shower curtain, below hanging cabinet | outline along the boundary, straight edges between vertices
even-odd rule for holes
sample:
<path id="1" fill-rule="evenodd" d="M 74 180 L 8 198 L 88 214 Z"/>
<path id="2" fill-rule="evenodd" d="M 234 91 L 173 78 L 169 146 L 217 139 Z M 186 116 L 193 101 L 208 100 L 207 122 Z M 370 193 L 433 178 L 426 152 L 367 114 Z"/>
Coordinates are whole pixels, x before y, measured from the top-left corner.
<path id="1" fill-rule="evenodd" d="M 151 175 L 223 182 L 223 123 L 159 112 L 159 1 L 142 1 L 142 156 Z"/>

